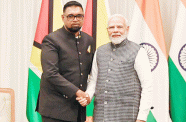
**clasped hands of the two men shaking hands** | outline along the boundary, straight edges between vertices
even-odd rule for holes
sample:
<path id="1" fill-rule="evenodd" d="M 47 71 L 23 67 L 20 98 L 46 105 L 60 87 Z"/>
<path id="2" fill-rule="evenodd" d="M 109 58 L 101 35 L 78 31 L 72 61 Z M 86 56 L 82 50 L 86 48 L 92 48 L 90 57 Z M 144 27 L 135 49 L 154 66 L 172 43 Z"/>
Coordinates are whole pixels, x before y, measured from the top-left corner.
<path id="1" fill-rule="evenodd" d="M 85 93 L 84 91 L 80 89 L 76 92 L 76 100 L 83 107 L 87 106 L 91 102 L 90 96 L 88 95 L 88 93 Z"/>

